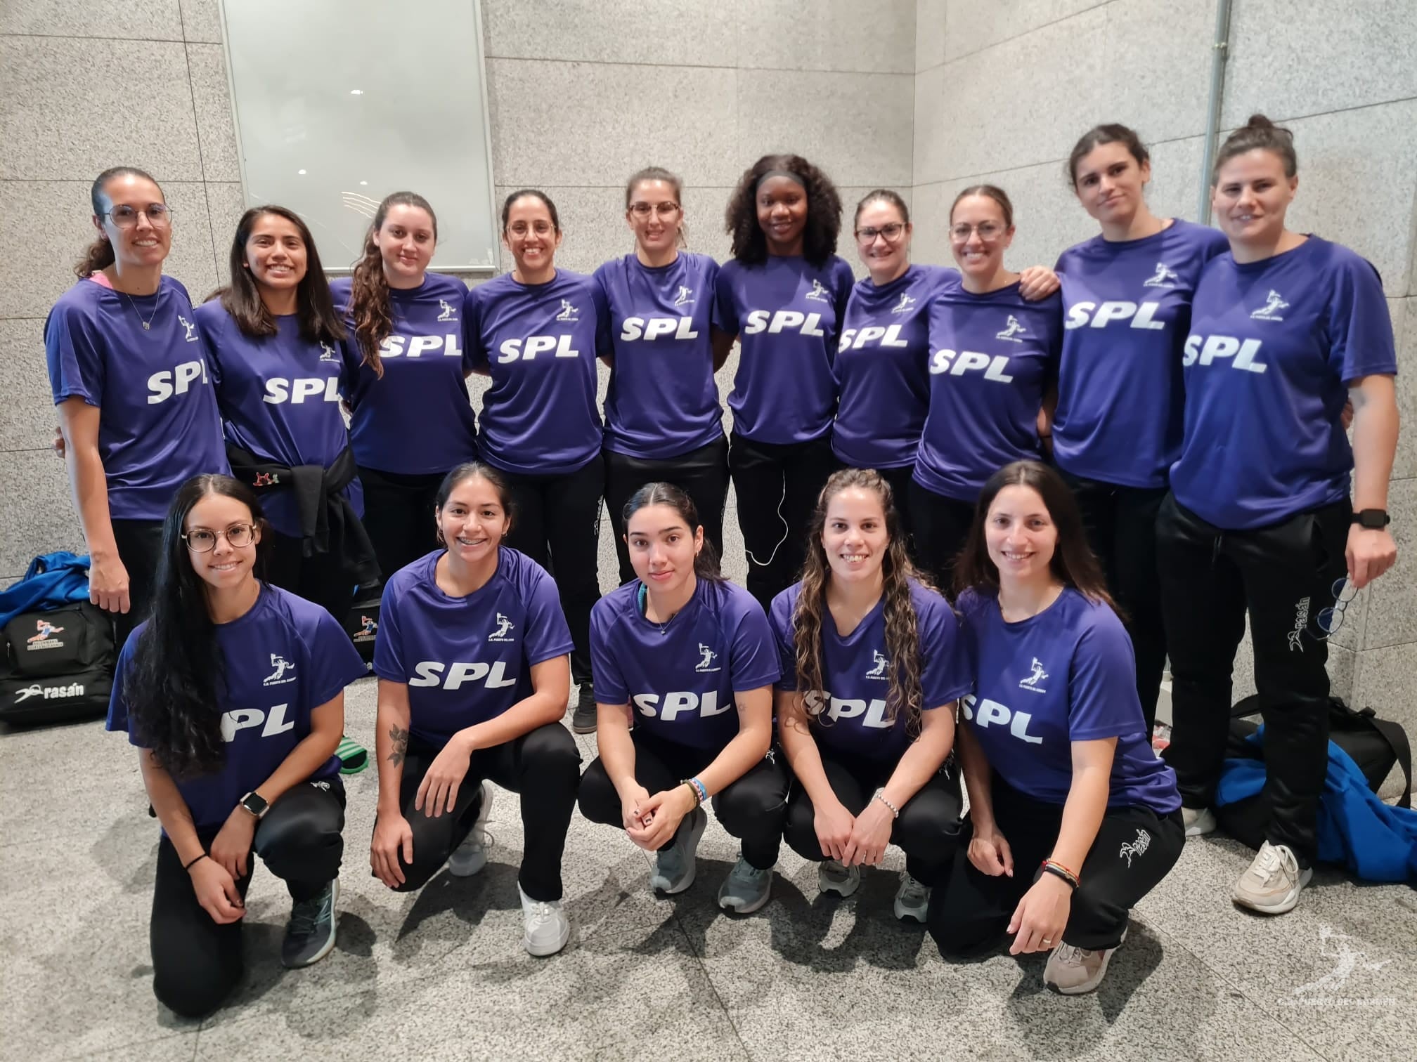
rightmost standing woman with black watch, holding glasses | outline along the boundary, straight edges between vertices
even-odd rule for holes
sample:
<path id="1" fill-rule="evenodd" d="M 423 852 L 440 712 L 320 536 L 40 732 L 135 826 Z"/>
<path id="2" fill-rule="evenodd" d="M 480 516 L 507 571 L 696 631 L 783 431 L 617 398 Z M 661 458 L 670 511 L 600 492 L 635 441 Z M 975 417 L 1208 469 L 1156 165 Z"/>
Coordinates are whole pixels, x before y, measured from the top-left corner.
<path id="1" fill-rule="evenodd" d="M 1335 603 L 1397 559 L 1397 354 L 1382 278 L 1346 246 L 1285 227 L 1298 169 L 1294 137 L 1264 115 L 1220 146 L 1210 197 L 1230 251 L 1196 286 L 1185 435 L 1156 521 L 1173 680 L 1166 759 L 1187 834 L 1216 826 L 1230 673 L 1250 620 L 1270 821 L 1231 898 L 1263 915 L 1291 910 L 1314 874 Z"/>

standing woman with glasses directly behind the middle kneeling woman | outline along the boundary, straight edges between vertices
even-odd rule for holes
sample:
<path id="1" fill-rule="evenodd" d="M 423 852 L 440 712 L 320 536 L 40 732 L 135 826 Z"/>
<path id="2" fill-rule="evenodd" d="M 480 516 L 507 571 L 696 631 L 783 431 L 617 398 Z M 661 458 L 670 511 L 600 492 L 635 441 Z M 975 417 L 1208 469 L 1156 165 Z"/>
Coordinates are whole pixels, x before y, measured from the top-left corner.
<path id="1" fill-rule="evenodd" d="M 683 183 L 657 166 L 625 184 L 635 251 L 595 270 L 606 304 L 611 367 L 605 394 L 605 506 L 615 528 L 619 581 L 635 578 L 625 545 L 625 503 L 646 483 L 680 487 L 723 554 L 728 439 L 713 374 L 733 337 L 711 327 L 718 263 L 684 249 Z M 589 721 L 589 722 L 594 722 Z"/>

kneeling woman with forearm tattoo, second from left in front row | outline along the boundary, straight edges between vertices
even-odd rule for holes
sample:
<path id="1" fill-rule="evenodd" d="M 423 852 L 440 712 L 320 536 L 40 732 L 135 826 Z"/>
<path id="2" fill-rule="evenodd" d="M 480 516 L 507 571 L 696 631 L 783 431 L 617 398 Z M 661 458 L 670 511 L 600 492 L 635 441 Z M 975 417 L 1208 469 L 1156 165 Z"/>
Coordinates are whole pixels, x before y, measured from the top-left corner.
<path id="1" fill-rule="evenodd" d="M 512 503 L 495 469 L 459 464 L 435 504 L 445 548 L 384 585 L 370 864 L 398 892 L 422 888 L 445 862 L 458 877 L 476 874 L 487 862 L 485 779 L 520 793 L 523 943 L 555 954 L 571 936 L 561 852 L 581 769 L 560 722 L 571 632 L 551 576 L 502 545 Z"/>

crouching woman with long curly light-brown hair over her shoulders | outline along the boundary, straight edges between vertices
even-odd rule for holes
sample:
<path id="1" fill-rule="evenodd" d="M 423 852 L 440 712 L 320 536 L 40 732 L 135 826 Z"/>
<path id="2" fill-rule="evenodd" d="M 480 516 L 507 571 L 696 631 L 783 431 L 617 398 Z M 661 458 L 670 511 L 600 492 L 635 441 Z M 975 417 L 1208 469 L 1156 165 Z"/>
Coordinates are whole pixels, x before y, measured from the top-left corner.
<path id="1" fill-rule="evenodd" d="M 896 918 L 925 920 L 959 833 L 945 769 L 971 681 L 959 622 L 921 585 L 890 484 L 835 473 L 816 504 L 802 582 L 772 602 L 782 657 L 778 733 L 795 780 L 786 841 L 850 896 L 886 845 L 905 850 Z M 815 725 L 813 725 L 815 724 Z"/>

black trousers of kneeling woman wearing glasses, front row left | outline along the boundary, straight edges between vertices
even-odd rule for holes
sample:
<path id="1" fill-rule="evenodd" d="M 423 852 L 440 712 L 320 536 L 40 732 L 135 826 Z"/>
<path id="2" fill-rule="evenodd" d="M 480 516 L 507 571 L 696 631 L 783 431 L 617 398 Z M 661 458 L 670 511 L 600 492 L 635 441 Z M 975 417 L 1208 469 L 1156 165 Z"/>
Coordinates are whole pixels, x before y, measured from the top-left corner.
<path id="1" fill-rule="evenodd" d="M 256 826 L 252 850 L 266 869 L 285 879 L 290 899 L 319 895 L 339 875 L 344 854 L 344 789 L 339 779 L 302 782 L 276 800 Z M 210 848 L 217 830 L 200 834 Z M 237 882 L 242 898 L 255 861 Z M 245 919 L 224 926 L 197 902 L 191 877 L 166 837 L 157 844 L 157 881 L 149 936 L 153 950 L 153 994 L 186 1018 L 200 1018 L 221 1005 L 241 980 L 245 963 L 241 937 Z"/>

